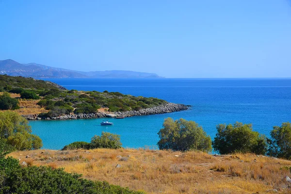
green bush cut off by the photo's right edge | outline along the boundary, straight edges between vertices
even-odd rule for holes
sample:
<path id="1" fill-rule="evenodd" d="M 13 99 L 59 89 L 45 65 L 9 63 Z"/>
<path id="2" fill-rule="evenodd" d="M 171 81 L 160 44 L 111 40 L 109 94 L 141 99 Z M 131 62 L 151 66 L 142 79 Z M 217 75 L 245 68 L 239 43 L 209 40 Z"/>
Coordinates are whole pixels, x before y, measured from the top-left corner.
<path id="1" fill-rule="evenodd" d="M 273 127 L 268 155 L 291 160 L 291 123 Z"/>

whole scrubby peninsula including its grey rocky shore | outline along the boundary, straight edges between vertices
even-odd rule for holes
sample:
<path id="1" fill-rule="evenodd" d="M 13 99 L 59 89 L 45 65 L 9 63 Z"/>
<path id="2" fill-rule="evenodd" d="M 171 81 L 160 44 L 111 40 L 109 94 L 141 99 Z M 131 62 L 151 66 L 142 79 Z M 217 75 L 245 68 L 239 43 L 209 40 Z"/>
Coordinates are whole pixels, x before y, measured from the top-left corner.
<path id="1" fill-rule="evenodd" d="M 0 110 L 13 110 L 27 119 L 127 117 L 188 109 L 155 97 L 67 90 L 50 81 L 20 76 L 0 75 L 0 92 Z"/>

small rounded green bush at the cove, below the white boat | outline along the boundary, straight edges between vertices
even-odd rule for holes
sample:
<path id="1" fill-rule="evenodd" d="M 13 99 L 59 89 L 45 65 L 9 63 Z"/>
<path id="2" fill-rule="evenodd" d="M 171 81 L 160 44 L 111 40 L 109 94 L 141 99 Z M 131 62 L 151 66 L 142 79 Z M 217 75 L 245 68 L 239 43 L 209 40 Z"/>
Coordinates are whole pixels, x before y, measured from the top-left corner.
<path id="1" fill-rule="evenodd" d="M 94 135 L 91 139 L 91 148 L 112 148 L 117 149 L 122 146 L 120 135 L 102 131 L 101 136 Z"/>

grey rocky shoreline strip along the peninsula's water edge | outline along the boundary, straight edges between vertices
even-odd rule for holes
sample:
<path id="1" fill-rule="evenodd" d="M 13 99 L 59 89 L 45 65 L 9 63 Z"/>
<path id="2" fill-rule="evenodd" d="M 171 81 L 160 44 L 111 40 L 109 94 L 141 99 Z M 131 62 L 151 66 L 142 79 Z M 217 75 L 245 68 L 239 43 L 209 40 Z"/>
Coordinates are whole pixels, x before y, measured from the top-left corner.
<path id="1" fill-rule="evenodd" d="M 164 105 L 141 109 L 139 111 L 126 111 L 126 112 L 114 112 L 114 113 L 78 113 L 78 114 L 66 114 L 56 117 L 38 117 L 39 114 L 26 114 L 22 115 L 27 120 L 69 120 L 69 119 L 84 119 L 84 118 L 106 118 L 115 116 L 142 116 L 142 115 L 153 115 L 153 114 L 163 114 L 163 113 L 173 113 L 178 111 L 188 110 L 189 106 L 184 104 L 167 103 Z"/>

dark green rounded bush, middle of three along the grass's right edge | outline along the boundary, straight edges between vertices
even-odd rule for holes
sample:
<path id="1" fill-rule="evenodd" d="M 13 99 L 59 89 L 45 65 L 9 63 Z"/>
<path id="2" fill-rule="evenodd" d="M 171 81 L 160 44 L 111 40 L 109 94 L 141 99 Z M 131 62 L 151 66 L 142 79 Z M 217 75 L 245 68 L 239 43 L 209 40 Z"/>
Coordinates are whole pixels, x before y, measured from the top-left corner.
<path id="1" fill-rule="evenodd" d="M 252 124 L 220 124 L 212 142 L 215 151 L 220 154 L 233 152 L 256 153 L 265 155 L 268 149 L 267 138 L 253 131 Z"/>

